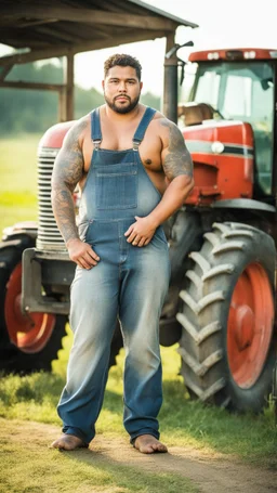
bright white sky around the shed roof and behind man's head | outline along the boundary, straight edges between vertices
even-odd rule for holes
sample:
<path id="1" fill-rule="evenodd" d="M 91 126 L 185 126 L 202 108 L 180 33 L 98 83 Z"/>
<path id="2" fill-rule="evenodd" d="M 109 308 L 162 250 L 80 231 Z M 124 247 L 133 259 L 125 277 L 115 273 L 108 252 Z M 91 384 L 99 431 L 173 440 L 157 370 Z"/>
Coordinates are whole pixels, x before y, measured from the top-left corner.
<path id="1" fill-rule="evenodd" d="M 196 29 L 176 30 L 179 44 L 194 42 L 193 48 L 179 50 L 177 55 L 185 61 L 190 51 L 214 48 L 277 49 L 276 0 L 147 0 L 145 3 L 199 25 Z M 114 53 L 129 53 L 143 66 L 143 92 L 161 95 L 164 50 L 163 38 L 80 53 L 75 56 L 75 82 L 102 92 L 104 61 Z"/>

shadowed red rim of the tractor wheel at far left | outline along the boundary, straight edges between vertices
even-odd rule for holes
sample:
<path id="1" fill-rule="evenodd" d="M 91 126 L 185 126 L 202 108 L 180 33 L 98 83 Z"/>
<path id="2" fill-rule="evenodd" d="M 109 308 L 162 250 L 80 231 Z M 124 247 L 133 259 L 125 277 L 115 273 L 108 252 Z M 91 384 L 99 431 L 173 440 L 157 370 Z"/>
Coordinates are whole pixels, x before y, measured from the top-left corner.
<path id="1" fill-rule="evenodd" d="M 25 353 L 36 353 L 41 351 L 50 339 L 55 325 L 55 315 L 37 312 L 23 314 L 21 297 L 22 263 L 18 263 L 6 284 L 5 324 L 11 342 Z"/>

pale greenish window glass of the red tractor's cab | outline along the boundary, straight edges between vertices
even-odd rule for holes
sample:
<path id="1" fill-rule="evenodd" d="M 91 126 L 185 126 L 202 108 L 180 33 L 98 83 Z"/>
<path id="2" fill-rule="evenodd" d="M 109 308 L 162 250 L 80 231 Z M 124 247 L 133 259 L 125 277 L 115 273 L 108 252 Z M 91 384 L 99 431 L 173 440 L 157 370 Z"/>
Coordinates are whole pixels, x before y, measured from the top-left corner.
<path id="1" fill-rule="evenodd" d="M 274 85 L 266 62 L 199 64 L 192 100 L 213 106 L 224 119 L 251 124 L 255 141 L 255 193 L 271 195 Z"/>

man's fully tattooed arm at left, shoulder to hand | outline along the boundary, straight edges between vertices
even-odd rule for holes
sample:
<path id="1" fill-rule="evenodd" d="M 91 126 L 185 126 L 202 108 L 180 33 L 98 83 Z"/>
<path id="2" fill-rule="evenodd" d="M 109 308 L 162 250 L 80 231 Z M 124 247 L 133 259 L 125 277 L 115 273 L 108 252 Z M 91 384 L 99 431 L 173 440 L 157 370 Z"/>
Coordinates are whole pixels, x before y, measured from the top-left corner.
<path id="1" fill-rule="evenodd" d="M 78 235 L 72 193 L 83 176 L 81 135 L 88 122 L 78 121 L 66 134 L 55 159 L 52 174 L 52 208 L 60 232 L 65 241 L 69 257 L 79 267 L 91 269 L 98 257 L 90 245 Z"/>

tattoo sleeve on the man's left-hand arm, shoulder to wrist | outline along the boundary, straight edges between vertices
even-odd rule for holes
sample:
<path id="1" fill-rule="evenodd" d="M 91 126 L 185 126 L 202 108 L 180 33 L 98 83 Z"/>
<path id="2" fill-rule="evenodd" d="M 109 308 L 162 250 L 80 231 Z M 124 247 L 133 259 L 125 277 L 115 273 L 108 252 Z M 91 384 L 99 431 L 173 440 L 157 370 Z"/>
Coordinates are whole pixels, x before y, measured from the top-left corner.
<path id="1" fill-rule="evenodd" d="M 81 121 L 69 130 L 53 168 L 52 208 L 65 243 L 79 237 L 72 193 L 83 176 L 83 155 L 78 139 L 87 125 Z"/>

